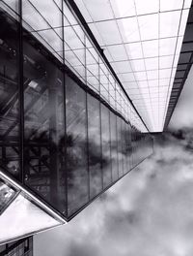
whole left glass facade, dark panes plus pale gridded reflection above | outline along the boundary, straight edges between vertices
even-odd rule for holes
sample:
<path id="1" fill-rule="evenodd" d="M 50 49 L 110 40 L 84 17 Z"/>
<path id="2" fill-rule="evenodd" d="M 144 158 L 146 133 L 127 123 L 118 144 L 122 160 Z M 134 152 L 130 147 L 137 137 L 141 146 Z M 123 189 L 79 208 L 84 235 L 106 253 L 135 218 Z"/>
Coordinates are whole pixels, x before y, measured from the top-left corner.
<path id="1" fill-rule="evenodd" d="M 152 138 L 66 3 L 48 3 L 0 2 L 0 166 L 69 220 L 148 157 Z"/>

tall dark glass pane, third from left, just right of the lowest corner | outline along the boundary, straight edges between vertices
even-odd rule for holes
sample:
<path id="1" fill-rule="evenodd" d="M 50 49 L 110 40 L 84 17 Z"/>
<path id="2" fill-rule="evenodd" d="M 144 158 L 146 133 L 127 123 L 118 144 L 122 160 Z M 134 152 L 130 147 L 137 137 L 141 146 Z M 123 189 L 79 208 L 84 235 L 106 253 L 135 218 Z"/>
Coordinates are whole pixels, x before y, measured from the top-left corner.
<path id="1" fill-rule="evenodd" d="M 66 77 L 67 172 L 69 215 L 89 200 L 86 93 Z"/>

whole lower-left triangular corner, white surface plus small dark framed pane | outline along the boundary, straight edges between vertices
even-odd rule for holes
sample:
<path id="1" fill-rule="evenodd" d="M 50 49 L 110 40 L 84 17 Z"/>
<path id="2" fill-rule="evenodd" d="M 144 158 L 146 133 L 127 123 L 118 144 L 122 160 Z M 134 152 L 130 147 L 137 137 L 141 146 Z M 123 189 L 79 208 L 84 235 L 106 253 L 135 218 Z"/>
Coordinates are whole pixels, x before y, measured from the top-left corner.
<path id="1" fill-rule="evenodd" d="M 8 178 L 8 179 L 7 179 Z M 63 222 L 0 171 L 0 243 L 47 230 Z M 3 209 L 3 210 L 2 210 Z"/>

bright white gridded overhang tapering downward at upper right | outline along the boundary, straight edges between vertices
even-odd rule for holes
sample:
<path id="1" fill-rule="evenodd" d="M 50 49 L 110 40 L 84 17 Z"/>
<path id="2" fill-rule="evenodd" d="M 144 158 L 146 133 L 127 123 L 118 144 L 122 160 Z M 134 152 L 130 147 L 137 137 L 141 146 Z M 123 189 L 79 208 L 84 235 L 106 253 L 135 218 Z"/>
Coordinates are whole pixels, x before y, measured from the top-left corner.
<path id="1" fill-rule="evenodd" d="M 151 132 L 162 131 L 191 1 L 75 3 Z"/>

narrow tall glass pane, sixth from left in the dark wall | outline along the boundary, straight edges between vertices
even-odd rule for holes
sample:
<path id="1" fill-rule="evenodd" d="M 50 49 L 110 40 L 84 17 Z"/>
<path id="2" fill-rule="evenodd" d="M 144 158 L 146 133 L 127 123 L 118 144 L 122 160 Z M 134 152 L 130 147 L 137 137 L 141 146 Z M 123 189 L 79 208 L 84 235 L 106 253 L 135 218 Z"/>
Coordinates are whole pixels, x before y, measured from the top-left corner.
<path id="1" fill-rule="evenodd" d="M 118 141 L 117 141 L 117 120 L 116 115 L 110 113 L 110 131 L 111 131 L 111 161 L 112 161 L 112 178 L 113 181 L 119 178 L 118 166 Z"/>

